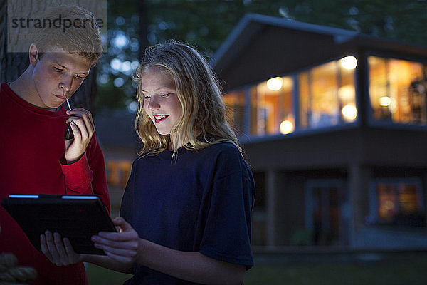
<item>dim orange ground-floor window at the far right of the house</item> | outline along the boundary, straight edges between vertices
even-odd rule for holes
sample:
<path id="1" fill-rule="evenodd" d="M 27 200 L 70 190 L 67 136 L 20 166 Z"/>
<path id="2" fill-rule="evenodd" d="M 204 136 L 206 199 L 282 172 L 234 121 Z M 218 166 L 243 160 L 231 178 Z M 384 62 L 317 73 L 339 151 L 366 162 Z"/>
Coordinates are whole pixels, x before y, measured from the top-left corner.
<path id="1" fill-rule="evenodd" d="M 371 220 L 374 224 L 424 227 L 421 182 L 414 179 L 378 180 L 371 186 Z"/>

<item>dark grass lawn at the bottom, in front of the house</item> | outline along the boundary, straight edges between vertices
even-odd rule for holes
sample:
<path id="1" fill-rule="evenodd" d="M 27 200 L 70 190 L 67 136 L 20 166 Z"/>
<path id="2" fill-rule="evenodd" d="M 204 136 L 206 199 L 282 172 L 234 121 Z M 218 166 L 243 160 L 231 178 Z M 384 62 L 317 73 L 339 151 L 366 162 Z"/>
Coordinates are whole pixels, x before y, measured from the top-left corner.
<path id="1" fill-rule="evenodd" d="M 256 259 L 255 266 L 246 273 L 245 285 L 421 285 L 427 284 L 427 253 L 412 252 L 381 254 L 379 260 L 327 259 L 322 261 L 292 261 Z M 91 285 L 122 284 L 130 278 L 90 264 Z"/>

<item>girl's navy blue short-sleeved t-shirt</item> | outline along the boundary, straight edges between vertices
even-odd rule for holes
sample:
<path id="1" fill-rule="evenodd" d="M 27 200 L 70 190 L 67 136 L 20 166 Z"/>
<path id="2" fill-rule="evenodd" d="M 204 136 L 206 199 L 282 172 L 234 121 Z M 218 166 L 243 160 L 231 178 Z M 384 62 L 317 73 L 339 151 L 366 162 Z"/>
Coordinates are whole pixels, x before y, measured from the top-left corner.
<path id="1" fill-rule="evenodd" d="M 236 146 L 180 147 L 176 159 L 164 150 L 134 161 L 120 216 L 142 239 L 248 269 L 254 198 L 253 175 Z M 126 284 L 193 283 L 137 264 Z"/>

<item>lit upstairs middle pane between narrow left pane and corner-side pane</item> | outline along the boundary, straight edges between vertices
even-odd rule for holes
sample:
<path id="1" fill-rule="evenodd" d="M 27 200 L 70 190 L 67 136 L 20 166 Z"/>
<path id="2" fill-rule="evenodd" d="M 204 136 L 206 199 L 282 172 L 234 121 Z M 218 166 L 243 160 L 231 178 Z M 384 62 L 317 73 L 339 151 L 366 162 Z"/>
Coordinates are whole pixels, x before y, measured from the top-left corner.
<path id="1" fill-rule="evenodd" d="M 251 88 L 252 135 L 293 132 L 292 89 L 289 76 L 270 78 Z"/>

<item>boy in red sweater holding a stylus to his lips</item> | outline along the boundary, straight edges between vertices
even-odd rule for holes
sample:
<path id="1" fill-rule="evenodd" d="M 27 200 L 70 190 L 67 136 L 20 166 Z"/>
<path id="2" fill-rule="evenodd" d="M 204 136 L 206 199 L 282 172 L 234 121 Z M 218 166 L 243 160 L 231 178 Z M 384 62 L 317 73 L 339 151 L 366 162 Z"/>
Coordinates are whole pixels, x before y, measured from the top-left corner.
<path id="1" fill-rule="evenodd" d="M 109 209 L 105 163 L 88 110 L 62 107 L 102 53 L 95 17 L 78 6 L 50 9 L 77 23 L 41 28 L 29 47 L 30 64 L 19 78 L 0 87 L 0 199 L 9 194 L 100 195 Z M 81 24 L 85 23 L 85 25 Z M 74 140 L 65 140 L 70 124 Z M 56 266 L 29 242 L 0 207 L 0 253 L 38 271 L 31 284 L 88 284 L 83 263 Z"/>

